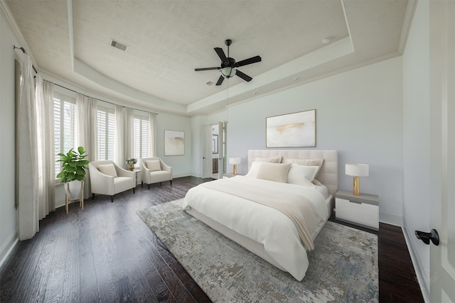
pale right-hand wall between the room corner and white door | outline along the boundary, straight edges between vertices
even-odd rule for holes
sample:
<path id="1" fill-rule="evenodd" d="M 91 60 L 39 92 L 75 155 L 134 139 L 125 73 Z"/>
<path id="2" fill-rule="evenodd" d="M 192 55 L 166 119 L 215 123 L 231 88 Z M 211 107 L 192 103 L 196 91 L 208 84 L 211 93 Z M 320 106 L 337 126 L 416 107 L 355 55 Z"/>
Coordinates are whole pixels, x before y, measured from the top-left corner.
<path id="1" fill-rule="evenodd" d="M 424 294 L 429 291 L 429 246 L 414 231 L 430 230 L 429 68 L 429 2 L 418 1 L 403 54 L 403 230 Z"/>

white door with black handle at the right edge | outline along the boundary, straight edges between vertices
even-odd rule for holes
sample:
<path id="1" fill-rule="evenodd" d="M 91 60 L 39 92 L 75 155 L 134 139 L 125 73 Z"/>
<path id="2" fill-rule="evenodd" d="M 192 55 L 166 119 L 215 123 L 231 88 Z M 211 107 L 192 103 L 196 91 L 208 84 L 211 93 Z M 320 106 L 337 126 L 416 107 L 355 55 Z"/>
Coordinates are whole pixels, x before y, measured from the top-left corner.
<path id="1" fill-rule="evenodd" d="M 430 302 L 455 302 L 455 1 L 430 1 Z M 433 179 L 434 177 L 434 179 Z"/>

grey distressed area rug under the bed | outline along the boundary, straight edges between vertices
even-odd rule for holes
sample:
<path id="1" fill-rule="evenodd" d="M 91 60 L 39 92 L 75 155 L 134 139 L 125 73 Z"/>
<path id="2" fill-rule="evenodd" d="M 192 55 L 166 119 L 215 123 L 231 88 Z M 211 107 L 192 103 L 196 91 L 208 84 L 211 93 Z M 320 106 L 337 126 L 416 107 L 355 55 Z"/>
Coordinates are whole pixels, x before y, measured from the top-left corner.
<path id="1" fill-rule="evenodd" d="M 182 211 L 137 211 L 213 302 L 378 302 L 378 236 L 328 221 L 297 281 Z"/>

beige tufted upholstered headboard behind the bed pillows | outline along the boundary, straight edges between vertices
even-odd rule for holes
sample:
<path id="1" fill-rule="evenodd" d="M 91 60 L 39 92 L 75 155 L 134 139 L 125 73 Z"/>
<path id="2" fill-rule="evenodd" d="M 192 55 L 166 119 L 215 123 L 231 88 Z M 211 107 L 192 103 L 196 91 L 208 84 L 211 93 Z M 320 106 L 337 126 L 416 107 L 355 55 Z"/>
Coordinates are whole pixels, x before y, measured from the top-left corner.
<path id="1" fill-rule="evenodd" d="M 297 159 L 323 158 L 324 162 L 317 179 L 326 185 L 329 194 L 335 197 L 338 190 L 337 150 L 248 150 L 248 170 L 255 158 L 271 158 L 278 155 Z"/>

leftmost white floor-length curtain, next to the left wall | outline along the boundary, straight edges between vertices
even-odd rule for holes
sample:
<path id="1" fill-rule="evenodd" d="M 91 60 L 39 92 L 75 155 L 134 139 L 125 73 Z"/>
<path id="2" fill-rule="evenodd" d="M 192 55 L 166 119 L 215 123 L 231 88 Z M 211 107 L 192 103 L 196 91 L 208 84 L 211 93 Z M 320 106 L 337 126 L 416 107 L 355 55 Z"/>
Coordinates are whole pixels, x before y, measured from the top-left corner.
<path id="1" fill-rule="evenodd" d="M 17 167 L 19 240 L 33 238 L 38 224 L 38 159 L 35 85 L 30 57 L 24 53 L 21 97 L 17 106 Z"/>

